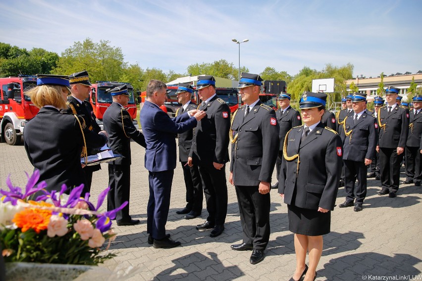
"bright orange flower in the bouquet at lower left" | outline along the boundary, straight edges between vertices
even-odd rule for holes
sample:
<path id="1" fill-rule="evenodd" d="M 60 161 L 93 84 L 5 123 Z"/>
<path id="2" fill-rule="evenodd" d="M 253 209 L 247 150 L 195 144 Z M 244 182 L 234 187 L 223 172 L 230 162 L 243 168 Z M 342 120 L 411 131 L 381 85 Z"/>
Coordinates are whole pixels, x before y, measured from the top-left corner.
<path id="1" fill-rule="evenodd" d="M 39 206 L 52 206 L 51 204 L 43 201 L 29 201 L 28 203 Z M 52 211 L 50 210 L 26 208 L 16 213 L 12 222 L 14 222 L 16 226 L 22 230 L 22 232 L 33 229 L 36 233 L 40 233 L 40 231 L 47 229 L 51 216 Z"/>

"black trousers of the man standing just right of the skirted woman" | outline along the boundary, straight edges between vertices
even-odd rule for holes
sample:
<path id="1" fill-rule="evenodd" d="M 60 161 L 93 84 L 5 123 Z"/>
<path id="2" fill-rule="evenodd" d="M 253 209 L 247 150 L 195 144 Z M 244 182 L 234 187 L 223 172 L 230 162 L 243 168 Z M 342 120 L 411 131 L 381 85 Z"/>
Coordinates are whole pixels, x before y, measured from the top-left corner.
<path id="1" fill-rule="evenodd" d="M 346 200 L 353 202 L 356 196 L 356 202 L 363 203 L 367 195 L 367 166 L 364 161 L 343 160 L 343 163 Z M 358 179 L 358 184 L 354 192 L 356 179 Z"/>

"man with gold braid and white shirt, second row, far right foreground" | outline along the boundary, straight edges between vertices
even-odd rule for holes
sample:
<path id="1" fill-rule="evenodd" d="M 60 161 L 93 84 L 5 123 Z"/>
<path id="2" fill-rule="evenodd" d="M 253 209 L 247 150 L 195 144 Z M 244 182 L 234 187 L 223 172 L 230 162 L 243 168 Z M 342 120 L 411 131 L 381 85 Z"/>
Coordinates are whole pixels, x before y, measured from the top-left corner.
<path id="1" fill-rule="evenodd" d="M 388 87 L 385 90 L 387 104 L 378 110 L 379 168 L 381 190 L 379 195 L 397 196 L 400 182 L 400 165 L 409 132 L 409 110 L 397 104 L 400 89 Z"/>

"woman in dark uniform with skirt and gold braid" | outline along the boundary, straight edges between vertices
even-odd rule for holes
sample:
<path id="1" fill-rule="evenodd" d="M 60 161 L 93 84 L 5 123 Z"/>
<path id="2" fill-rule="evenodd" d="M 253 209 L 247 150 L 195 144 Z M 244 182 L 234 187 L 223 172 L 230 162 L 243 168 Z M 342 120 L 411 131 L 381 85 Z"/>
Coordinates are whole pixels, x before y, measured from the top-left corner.
<path id="1" fill-rule="evenodd" d="M 342 165 L 342 142 L 321 123 L 327 95 L 305 92 L 300 99 L 302 120 L 287 133 L 278 193 L 288 207 L 294 233 L 296 271 L 291 280 L 315 280 L 322 254 L 322 235 L 330 232 L 331 210 L 337 196 Z M 309 252 L 309 267 L 305 264 Z"/>

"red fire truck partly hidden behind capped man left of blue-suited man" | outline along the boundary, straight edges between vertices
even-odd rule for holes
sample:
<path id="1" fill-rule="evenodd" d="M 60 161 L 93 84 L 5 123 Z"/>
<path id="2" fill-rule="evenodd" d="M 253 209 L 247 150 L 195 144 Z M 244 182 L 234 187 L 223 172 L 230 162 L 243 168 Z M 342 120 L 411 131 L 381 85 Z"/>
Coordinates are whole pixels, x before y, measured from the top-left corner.
<path id="1" fill-rule="evenodd" d="M 136 103 L 133 94 L 133 87 L 129 83 L 122 82 L 110 82 L 110 81 L 97 81 L 96 84 L 92 84 L 91 93 L 89 94 L 89 102 L 94 108 L 94 114 L 97 116 L 97 123 L 103 129 L 103 114 L 106 112 L 108 106 L 113 102 L 111 95 L 106 93 L 106 91 L 111 90 L 115 87 L 122 86 L 126 84 L 128 92 L 130 94 L 129 103 L 126 106 L 127 111 L 132 117 L 133 125 L 136 128 L 139 128 L 138 121 L 136 121 Z"/>

